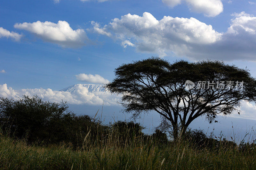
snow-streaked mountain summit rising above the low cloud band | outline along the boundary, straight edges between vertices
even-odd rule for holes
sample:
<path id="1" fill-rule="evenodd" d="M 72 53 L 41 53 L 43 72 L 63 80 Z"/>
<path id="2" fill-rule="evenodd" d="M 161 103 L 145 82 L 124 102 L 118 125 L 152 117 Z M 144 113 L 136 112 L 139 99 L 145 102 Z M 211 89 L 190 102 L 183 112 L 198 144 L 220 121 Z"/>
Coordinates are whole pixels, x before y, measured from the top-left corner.
<path id="1" fill-rule="evenodd" d="M 105 88 L 103 85 L 93 85 L 93 84 L 77 84 L 82 85 L 83 87 L 88 89 L 88 92 L 105 92 Z M 60 92 L 74 92 L 76 90 L 77 85 L 70 85 L 62 90 Z"/>

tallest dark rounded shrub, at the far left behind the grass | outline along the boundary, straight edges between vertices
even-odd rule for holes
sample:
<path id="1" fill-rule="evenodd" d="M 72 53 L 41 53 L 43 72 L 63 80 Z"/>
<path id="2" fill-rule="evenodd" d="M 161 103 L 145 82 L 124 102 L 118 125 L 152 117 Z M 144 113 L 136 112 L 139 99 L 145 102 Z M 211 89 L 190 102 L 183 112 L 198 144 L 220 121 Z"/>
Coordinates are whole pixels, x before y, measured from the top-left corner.
<path id="1" fill-rule="evenodd" d="M 20 100 L 0 98 L 0 123 L 4 131 L 28 142 L 48 139 L 59 134 L 61 121 L 70 119 L 67 103 L 51 103 L 37 96 Z"/>

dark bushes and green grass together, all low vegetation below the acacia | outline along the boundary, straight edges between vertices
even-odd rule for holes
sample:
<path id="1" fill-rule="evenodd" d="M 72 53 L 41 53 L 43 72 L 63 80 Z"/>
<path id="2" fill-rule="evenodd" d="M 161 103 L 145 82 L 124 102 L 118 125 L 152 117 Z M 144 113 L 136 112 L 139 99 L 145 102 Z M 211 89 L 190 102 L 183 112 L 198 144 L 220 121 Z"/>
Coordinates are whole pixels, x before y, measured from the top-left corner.
<path id="1" fill-rule="evenodd" d="M 177 141 L 135 122 L 104 124 L 67 103 L 0 98 L 1 169 L 255 169 L 255 141 L 235 144 L 187 130 Z"/>

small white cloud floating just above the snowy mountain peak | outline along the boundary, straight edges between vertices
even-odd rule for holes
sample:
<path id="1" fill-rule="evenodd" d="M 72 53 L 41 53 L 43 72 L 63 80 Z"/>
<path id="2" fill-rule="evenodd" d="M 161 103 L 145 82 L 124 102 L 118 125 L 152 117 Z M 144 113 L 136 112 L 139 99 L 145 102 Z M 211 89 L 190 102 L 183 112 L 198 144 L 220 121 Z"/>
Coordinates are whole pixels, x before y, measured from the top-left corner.
<path id="1" fill-rule="evenodd" d="M 98 74 L 92 75 L 92 74 L 78 74 L 76 75 L 76 79 L 79 81 L 86 81 L 89 83 L 96 83 L 96 84 L 106 84 L 109 83 L 109 81 L 103 77 L 101 77 Z"/>

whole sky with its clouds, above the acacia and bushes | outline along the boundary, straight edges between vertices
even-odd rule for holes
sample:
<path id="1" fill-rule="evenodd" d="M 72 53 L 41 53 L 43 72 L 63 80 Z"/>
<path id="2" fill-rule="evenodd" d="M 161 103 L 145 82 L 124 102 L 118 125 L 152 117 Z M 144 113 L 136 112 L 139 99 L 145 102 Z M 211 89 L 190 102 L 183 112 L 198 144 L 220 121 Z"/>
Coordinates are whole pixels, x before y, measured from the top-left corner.
<path id="1" fill-rule="evenodd" d="M 80 86 L 77 94 L 57 91 L 111 81 L 122 63 L 150 56 L 218 59 L 256 77 L 255 7 L 253 0 L 2 0 L 0 96 L 101 105 L 104 97 Z"/>

